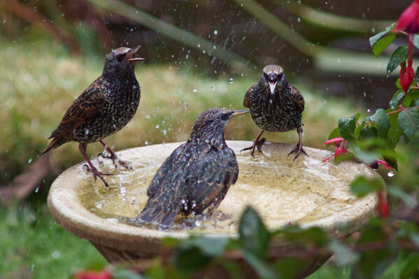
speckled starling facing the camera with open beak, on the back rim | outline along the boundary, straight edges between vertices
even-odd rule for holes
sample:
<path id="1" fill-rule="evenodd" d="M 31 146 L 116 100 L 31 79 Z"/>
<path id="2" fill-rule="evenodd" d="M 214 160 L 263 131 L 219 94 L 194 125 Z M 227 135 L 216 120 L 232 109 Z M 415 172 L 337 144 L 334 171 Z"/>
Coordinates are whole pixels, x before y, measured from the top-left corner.
<path id="1" fill-rule="evenodd" d="M 263 68 L 258 84 L 253 84 L 246 92 L 243 101 L 244 107 L 249 107 L 250 114 L 256 125 L 262 130 L 253 142 L 253 145 L 243 150 L 251 149 L 251 156 L 255 147 L 265 143 L 265 138 L 259 140 L 263 131 L 286 132 L 297 129 L 299 141 L 290 153 L 295 153 L 294 160 L 300 153 L 308 154 L 302 148 L 301 116 L 304 110 L 304 98 L 298 89 L 289 84 L 284 70 L 278 65 L 267 65 Z M 242 151 L 243 151 L 242 150 Z"/>

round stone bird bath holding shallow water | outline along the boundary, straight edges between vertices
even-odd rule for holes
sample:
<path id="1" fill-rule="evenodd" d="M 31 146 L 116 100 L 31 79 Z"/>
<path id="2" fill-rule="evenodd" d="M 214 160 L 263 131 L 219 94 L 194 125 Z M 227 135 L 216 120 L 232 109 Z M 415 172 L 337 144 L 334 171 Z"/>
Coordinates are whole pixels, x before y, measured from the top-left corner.
<path id="1" fill-rule="evenodd" d="M 252 142 L 228 141 L 237 156 L 240 174 L 226 198 L 209 218 L 188 218 L 190 228 L 175 225 L 159 230 L 121 222 L 123 216 L 137 216 L 147 202 L 147 186 L 163 160 L 180 143 L 157 144 L 118 152 L 119 158 L 131 163 L 133 171 L 117 170 L 110 160 L 92 160 L 108 176 L 110 189 L 85 172 L 84 163 L 62 173 L 52 183 L 48 206 L 57 223 L 73 234 L 90 241 L 109 262 L 154 257 L 161 251 L 165 237 L 185 238 L 190 235 L 232 236 L 244 207 L 251 204 L 270 229 L 289 222 L 302 227 L 320 226 L 331 234 L 339 225 L 351 232 L 362 228 L 364 220 L 374 214 L 376 195 L 355 198 L 349 192 L 350 181 L 360 174 L 378 176 L 366 165 L 344 162 L 323 163 L 330 151 L 304 147 L 309 157 L 286 154 L 291 144 L 266 143 L 263 155 L 240 153 Z M 185 218 L 181 219 L 180 223 Z M 183 222 L 185 223 L 185 222 Z"/>

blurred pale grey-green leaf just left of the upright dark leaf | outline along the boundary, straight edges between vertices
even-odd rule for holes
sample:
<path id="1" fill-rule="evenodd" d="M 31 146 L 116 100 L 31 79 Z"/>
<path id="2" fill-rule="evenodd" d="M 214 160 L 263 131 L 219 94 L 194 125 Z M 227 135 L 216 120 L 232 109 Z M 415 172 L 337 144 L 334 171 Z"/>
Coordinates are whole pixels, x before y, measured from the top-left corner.
<path id="1" fill-rule="evenodd" d="M 183 245 L 195 246 L 199 248 L 204 255 L 216 257 L 223 254 L 228 244 L 226 237 L 207 237 L 197 236 L 191 237 L 184 241 Z"/>

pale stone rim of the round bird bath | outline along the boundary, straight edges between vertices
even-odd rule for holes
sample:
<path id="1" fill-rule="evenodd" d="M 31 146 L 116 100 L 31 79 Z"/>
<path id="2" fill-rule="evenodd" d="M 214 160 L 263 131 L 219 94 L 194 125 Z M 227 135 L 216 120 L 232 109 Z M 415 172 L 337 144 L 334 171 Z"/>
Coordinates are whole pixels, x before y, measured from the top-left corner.
<path id="1" fill-rule="evenodd" d="M 142 146 L 133 149 L 126 149 L 124 151 L 117 152 L 119 158 L 122 160 L 130 161 L 131 158 L 134 158 L 133 155 L 136 152 L 140 152 L 142 157 L 149 160 L 152 160 L 156 155 L 156 152 L 162 149 L 175 149 L 175 147 L 182 144 L 182 142 L 168 143 L 168 144 L 156 144 L 151 146 Z M 236 155 L 240 154 L 240 149 L 243 147 L 249 146 L 252 142 L 245 141 L 227 141 L 227 144 L 232 148 Z M 269 143 L 265 144 L 263 150 L 265 151 L 274 151 L 281 149 L 284 151 L 289 151 L 293 149 L 294 145 L 292 144 L 279 144 L 279 143 Z M 330 151 L 314 149 L 309 147 L 304 147 L 309 153 L 309 158 L 317 158 L 321 160 L 322 158 L 328 158 L 331 154 Z M 151 152 L 153 151 L 154 152 Z M 151 152 L 151 153 L 150 153 Z M 171 152 L 171 151 L 170 151 Z M 250 156 L 249 153 L 243 153 L 243 156 Z M 304 155 L 297 158 L 297 160 L 305 160 Z M 292 158 L 290 158 L 292 160 Z M 295 160 L 295 163 L 297 163 Z M 93 160 L 94 163 L 96 159 Z M 135 227 L 133 225 L 127 225 L 124 223 L 119 223 L 115 219 L 105 219 L 97 216 L 95 213 L 89 211 L 84 204 L 82 204 L 79 193 L 80 187 L 83 186 L 82 183 L 74 183 L 84 177 L 79 176 L 77 172 L 80 172 L 80 166 L 83 165 L 80 163 L 73 167 L 70 167 L 65 172 L 60 174 L 57 179 L 52 183 L 50 188 L 50 193 L 47 198 L 48 207 L 52 213 L 54 219 L 73 234 L 90 241 L 96 248 L 98 246 L 106 246 L 109 248 L 117 250 L 142 250 L 145 247 L 156 249 L 154 254 L 158 253 L 159 246 L 161 245 L 161 239 L 170 237 L 175 239 L 184 239 L 191 235 L 196 235 L 195 233 L 190 232 L 178 232 L 171 230 L 157 230 L 157 229 L 148 229 L 143 227 Z M 240 160 L 239 160 L 240 164 Z M 332 164 L 332 163 L 325 163 Z M 344 162 L 343 166 L 356 165 L 363 169 L 363 172 L 367 176 L 376 176 L 372 169 L 366 165 L 360 165 L 354 162 Z M 341 169 L 346 169 L 342 167 Z M 342 170 L 344 171 L 344 170 Z M 240 174 L 239 174 L 240 175 Z M 91 185 L 90 185 L 91 186 Z M 101 184 L 101 181 L 96 182 L 93 187 L 105 187 Z M 234 187 L 234 186 L 232 186 Z M 228 194 L 227 194 L 228 195 Z M 362 228 L 363 223 L 367 220 L 369 216 L 374 214 L 374 209 L 376 207 L 378 200 L 376 195 L 367 195 L 361 199 L 357 199 L 352 206 L 349 206 L 347 209 L 342 209 L 341 211 L 321 218 L 320 220 L 314 220 L 309 223 L 305 223 L 302 227 L 313 227 L 319 226 L 323 227 L 330 233 L 335 233 L 339 230 L 339 224 L 341 223 L 350 223 L 351 232 L 358 231 Z M 202 235 L 202 234 L 198 234 Z M 210 237 L 235 237 L 237 234 L 221 235 L 221 234 L 205 234 L 205 236 Z M 152 252 L 152 251 L 148 251 Z"/>

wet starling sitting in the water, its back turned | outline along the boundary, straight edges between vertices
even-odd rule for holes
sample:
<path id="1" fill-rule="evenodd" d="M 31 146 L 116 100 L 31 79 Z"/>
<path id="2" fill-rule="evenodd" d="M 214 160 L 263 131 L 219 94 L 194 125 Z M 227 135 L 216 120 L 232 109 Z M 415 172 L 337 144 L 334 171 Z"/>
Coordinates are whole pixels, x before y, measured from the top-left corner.
<path id="1" fill-rule="evenodd" d="M 200 214 L 218 206 L 239 174 L 224 129 L 233 116 L 247 112 L 212 108 L 200 114 L 189 140 L 157 171 L 147 190 L 147 204 L 136 219 L 170 227 L 179 213 Z"/>

